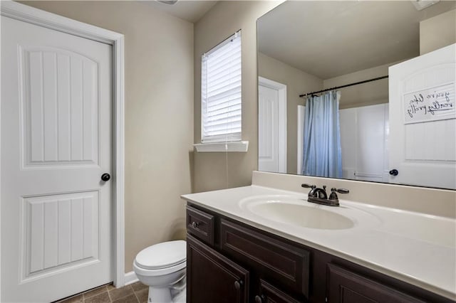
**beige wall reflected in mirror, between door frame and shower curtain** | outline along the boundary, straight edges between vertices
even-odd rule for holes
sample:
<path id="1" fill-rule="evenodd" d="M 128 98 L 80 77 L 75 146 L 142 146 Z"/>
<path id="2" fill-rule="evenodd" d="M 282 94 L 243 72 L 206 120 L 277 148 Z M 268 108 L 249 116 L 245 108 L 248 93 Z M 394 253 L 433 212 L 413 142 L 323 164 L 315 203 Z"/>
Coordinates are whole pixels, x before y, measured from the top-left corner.
<path id="1" fill-rule="evenodd" d="M 304 105 L 302 93 L 321 90 L 323 80 L 303 72 L 264 53 L 258 56 L 258 75 L 286 85 L 286 171 L 296 174 L 298 105 Z"/>

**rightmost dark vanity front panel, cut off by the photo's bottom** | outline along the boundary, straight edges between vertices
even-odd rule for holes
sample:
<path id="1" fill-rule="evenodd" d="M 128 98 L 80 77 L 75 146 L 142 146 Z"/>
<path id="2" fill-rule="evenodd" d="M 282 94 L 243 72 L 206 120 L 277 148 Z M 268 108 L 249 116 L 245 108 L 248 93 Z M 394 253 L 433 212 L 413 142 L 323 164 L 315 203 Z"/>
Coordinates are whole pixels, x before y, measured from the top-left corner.
<path id="1" fill-rule="evenodd" d="M 327 287 L 330 303 L 423 302 L 333 264 L 328 264 Z"/>

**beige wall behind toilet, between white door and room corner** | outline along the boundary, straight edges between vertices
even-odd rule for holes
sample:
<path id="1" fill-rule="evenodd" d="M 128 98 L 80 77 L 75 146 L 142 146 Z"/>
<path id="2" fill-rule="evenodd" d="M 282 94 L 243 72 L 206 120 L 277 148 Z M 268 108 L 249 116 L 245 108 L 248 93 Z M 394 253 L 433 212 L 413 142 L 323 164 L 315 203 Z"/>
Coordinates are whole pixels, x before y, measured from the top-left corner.
<path id="1" fill-rule="evenodd" d="M 193 25 L 140 1 L 25 4 L 125 35 L 125 271 L 185 237 L 193 142 Z"/>

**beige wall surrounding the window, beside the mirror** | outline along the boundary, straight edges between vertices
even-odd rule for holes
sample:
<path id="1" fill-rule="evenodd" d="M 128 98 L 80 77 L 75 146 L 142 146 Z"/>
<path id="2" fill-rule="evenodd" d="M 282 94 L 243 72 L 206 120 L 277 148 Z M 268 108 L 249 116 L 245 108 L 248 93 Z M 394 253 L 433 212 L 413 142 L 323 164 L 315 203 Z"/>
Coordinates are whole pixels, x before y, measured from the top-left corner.
<path id="1" fill-rule="evenodd" d="M 195 23 L 195 142 L 201 142 L 201 55 L 242 29 L 242 139 L 247 153 L 194 153 L 193 191 L 252 183 L 258 159 L 257 18 L 281 1 L 219 1 Z"/>

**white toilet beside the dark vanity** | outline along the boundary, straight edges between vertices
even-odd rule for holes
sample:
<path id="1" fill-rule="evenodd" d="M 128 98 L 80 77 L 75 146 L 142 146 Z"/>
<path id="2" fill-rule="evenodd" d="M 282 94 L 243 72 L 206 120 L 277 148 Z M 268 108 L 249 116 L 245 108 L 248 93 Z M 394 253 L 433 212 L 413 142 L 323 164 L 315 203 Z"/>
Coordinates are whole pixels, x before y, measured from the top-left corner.
<path id="1" fill-rule="evenodd" d="M 133 270 L 140 282 L 149 287 L 147 302 L 186 302 L 186 260 L 184 240 L 158 243 L 136 255 Z"/>

